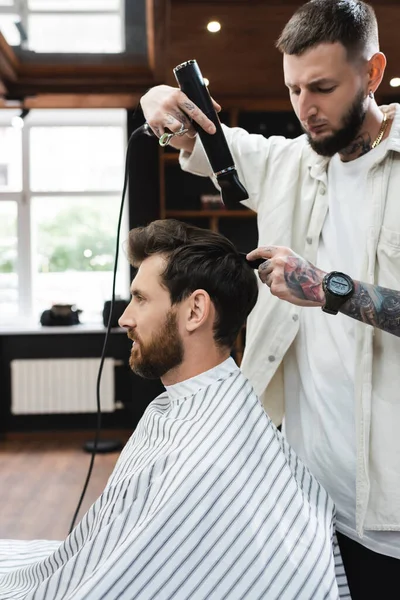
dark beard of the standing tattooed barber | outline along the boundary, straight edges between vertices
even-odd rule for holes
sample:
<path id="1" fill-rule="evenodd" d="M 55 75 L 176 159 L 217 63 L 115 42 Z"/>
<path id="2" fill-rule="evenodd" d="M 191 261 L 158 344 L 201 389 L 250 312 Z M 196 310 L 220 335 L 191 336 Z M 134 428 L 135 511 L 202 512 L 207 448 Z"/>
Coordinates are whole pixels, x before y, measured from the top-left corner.
<path id="1" fill-rule="evenodd" d="M 366 109 L 364 91 L 360 90 L 353 104 L 342 119 L 342 126 L 332 135 L 315 140 L 307 133 L 311 148 L 321 156 L 331 157 L 355 142 L 364 122 Z"/>

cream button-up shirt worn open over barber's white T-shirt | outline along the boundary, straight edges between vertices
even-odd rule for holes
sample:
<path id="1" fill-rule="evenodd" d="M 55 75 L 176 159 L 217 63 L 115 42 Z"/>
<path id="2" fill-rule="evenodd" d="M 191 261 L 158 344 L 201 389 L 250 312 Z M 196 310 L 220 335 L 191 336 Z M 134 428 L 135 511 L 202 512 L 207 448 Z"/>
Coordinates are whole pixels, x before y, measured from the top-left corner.
<path id="1" fill-rule="evenodd" d="M 393 124 L 383 160 L 366 174 L 369 222 L 366 247 L 360 248 L 361 280 L 400 290 L 400 106 L 382 109 Z M 266 139 L 226 127 L 224 132 L 249 194 L 245 204 L 257 212 L 259 245 L 288 246 L 315 264 L 328 209 L 328 159 L 312 151 L 306 136 Z M 181 152 L 180 162 L 186 171 L 212 175 L 199 140 L 192 154 Z M 282 360 L 298 332 L 301 310 L 260 284 L 248 319 L 242 369 L 275 422 L 284 412 Z M 356 325 L 357 531 L 400 531 L 400 339 Z"/>

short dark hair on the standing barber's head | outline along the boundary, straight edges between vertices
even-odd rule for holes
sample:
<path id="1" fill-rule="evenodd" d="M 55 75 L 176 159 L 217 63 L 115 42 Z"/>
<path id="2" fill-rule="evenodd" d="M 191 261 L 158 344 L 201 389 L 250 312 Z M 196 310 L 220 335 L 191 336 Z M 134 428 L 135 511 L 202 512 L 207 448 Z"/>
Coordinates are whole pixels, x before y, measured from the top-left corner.
<path id="1" fill-rule="evenodd" d="M 294 13 L 276 47 L 300 56 L 323 43 L 341 43 L 349 61 L 370 58 L 379 51 L 375 11 L 361 0 L 311 0 Z"/>

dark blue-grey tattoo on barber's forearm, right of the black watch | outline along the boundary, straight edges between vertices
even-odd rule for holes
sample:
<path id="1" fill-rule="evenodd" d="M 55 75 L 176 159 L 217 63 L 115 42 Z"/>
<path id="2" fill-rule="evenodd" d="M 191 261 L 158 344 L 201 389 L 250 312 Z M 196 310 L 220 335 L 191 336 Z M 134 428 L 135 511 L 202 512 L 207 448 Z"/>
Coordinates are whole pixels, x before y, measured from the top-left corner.
<path id="1" fill-rule="evenodd" d="M 340 312 L 400 336 L 400 292 L 362 283 L 354 282 L 354 294 L 343 304 Z"/>

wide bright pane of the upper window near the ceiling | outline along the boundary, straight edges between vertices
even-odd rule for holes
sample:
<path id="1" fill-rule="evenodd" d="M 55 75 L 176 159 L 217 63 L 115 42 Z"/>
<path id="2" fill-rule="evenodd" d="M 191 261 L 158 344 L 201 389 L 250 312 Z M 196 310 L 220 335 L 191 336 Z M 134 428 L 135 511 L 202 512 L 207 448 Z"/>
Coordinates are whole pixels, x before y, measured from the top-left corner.
<path id="1" fill-rule="evenodd" d="M 121 17 L 34 13 L 28 18 L 28 40 L 35 52 L 122 52 Z"/>

